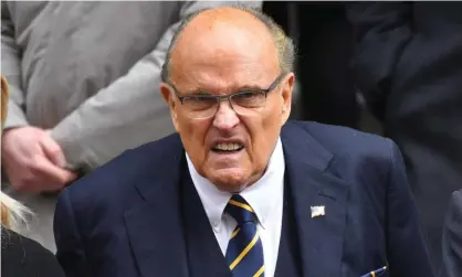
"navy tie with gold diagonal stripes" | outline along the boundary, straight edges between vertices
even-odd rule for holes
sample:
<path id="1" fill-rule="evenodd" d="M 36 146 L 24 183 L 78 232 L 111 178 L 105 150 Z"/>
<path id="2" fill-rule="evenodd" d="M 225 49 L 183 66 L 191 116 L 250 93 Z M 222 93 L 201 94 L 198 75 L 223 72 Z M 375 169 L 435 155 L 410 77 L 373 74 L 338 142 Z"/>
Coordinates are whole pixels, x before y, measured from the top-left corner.
<path id="1" fill-rule="evenodd" d="M 224 211 L 238 222 L 225 256 L 232 276 L 263 277 L 263 246 L 256 230 L 256 214 L 239 194 L 231 198 Z"/>

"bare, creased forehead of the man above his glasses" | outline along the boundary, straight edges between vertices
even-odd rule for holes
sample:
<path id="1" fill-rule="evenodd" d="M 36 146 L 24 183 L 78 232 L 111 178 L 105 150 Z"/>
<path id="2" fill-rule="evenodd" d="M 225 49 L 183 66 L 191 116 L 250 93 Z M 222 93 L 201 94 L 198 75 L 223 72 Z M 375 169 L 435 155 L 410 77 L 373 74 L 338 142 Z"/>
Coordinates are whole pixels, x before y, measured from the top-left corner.
<path id="1" fill-rule="evenodd" d="M 180 90 L 224 94 L 248 85 L 269 85 L 279 74 L 279 61 L 267 31 L 216 22 L 211 28 L 185 29 L 170 68 Z"/>

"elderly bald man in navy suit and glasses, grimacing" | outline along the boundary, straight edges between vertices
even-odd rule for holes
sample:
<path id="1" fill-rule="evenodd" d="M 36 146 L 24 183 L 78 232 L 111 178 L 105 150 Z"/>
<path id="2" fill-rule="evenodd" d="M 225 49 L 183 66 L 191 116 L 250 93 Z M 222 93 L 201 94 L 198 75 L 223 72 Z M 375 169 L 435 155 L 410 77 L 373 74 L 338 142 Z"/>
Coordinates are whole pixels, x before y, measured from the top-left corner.
<path id="1" fill-rule="evenodd" d="M 178 134 L 124 152 L 59 199 L 67 275 L 433 276 L 397 147 L 286 124 L 293 57 L 256 11 L 188 18 L 160 85 Z"/>

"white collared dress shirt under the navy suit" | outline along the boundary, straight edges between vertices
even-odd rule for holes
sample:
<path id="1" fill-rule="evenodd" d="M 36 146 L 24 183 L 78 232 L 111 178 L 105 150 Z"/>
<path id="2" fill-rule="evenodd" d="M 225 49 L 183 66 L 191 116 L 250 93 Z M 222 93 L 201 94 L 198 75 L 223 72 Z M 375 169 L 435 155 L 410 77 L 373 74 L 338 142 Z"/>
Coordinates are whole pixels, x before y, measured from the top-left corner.
<path id="1" fill-rule="evenodd" d="M 201 177 L 189 156 L 186 157 L 192 182 L 224 256 L 231 234 L 238 225 L 231 215 L 223 213 L 232 194 L 218 190 L 208 179 Z M 280 138 L 263 177 L 240 193 L 259 219 L 258 231 L 263 245 L 266 277 L 273 277 L 276 269 L 283 214 L 284 171 L 284 153 Z"/>

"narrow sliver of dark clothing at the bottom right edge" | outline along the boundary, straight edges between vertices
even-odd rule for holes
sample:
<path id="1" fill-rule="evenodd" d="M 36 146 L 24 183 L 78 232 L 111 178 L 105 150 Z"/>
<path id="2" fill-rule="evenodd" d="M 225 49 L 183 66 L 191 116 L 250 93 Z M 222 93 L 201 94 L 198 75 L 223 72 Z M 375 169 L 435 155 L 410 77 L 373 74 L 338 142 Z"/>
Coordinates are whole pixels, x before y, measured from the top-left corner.
<path id="1" fill-rule="evenodd" d="M 440 277 L 462 276 L 462 190 L 452 194 L 443 228 L 443 263 Z"/>

